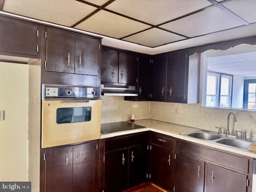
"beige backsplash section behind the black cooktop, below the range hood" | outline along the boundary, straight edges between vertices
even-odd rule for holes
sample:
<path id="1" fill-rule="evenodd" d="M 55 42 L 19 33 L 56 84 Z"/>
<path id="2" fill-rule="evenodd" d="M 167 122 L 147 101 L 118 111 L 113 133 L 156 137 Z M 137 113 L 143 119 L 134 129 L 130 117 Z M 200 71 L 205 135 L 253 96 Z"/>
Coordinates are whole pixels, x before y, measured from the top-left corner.
<path id="1" fill-rule="evenodd" d="M 102 96 L 101 123 L 128 121 L 134 114 L 136 120 L 149 118 L 149 101 L 125 101 L 122 96 Z"/>

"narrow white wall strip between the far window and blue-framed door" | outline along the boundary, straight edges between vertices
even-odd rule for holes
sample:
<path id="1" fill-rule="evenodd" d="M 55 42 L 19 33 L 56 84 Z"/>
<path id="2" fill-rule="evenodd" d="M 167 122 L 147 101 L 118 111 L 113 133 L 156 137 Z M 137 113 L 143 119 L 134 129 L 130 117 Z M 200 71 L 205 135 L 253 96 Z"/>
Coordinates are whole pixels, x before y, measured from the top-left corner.
<path id="1" fill-rule="evenodd" d="M 243 108 L 244 77 L 233 76 L 232 108 Z"/>

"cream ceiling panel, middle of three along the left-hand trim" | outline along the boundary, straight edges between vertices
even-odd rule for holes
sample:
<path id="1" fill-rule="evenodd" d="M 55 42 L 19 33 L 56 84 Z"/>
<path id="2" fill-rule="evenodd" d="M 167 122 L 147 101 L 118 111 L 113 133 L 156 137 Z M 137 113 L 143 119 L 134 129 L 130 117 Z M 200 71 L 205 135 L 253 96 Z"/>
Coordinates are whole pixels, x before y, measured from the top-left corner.
<path id="1" fill-rule="evenodd" d="M 114 38 L 122 38 L 140 30 L 150 28 L 150 26 L 100 10 L 84 22 L 78 24 L 76 28 Z"/>

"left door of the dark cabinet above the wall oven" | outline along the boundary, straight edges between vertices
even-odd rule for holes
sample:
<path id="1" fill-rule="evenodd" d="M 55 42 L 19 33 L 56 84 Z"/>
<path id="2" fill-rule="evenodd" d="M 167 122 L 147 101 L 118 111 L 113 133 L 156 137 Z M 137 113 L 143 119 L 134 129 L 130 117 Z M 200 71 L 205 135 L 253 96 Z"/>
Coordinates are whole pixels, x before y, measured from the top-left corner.
<path id="1" fill-rule="evenodd" d="M 74 73 L 75 36 L 64 30 L 47 28 L 46 70 Z"/>

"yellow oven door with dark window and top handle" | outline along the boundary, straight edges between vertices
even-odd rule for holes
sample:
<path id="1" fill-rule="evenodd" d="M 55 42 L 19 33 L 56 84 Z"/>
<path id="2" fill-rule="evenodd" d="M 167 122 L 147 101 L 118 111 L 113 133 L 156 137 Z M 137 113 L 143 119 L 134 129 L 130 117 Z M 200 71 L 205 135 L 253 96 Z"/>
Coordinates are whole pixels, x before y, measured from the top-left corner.
<path id="1" fill-rule="evenodd" d="M 101 100 L 43 100 L 42 148 L 100 138 Z"/>

